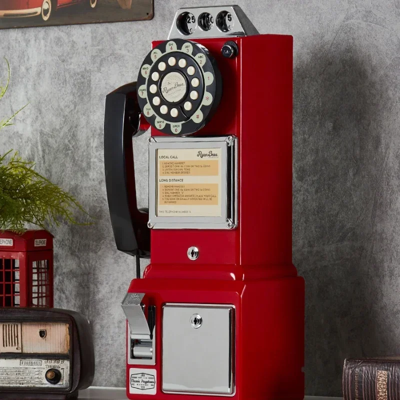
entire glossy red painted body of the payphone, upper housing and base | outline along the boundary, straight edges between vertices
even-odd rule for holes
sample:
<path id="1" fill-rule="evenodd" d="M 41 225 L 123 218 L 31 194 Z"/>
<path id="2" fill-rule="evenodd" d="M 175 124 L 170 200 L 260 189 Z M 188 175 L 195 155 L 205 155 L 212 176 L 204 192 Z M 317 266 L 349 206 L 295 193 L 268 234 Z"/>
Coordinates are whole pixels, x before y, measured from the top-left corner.
<path id="1" fill-rule="evenodd" d="M 302 399 L 304 282 L 291 263 L 292 37 L 235 38 L 233 59 L 220 53 L 225 41 L 198 40 L 217 60 L 223 91 L 211 121 L 195 135 L 238 138 L 238 226 L 152 229 L 151 263 L 129 291 L 144 292 L 143 301 L 156 306 L 156 365 L 127 365 L 127 382 L 129 367 L 155 368 L 152 398 L 198 400 L 161 390 L 162 305 L 222 303 L 235 307 L 232 398 Z M 151 134 L 162 135 L 154 128 Z M 190 246 L 199 248 L 195 261 L 186 255 Z"/>

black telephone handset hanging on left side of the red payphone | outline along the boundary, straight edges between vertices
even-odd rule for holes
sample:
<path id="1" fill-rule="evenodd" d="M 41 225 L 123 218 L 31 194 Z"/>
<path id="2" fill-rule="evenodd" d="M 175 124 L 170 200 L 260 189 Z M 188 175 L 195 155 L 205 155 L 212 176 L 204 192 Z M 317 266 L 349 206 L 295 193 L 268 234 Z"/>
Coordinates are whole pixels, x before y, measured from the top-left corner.
<path id="1" fill-rule="evenodd" d="M 137 208 L 132 137 L 140 136 L 136 82 L 107 94 L 104 112 L 104 168 L 108 208 L 118 250 L 150 254 L 148 210 Z"/>

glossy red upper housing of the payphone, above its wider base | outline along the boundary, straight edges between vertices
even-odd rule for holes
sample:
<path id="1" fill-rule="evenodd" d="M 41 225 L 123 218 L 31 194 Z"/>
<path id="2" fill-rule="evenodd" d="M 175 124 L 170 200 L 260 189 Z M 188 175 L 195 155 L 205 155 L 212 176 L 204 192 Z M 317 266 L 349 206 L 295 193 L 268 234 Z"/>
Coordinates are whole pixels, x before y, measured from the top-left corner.
<path id="1" fill-rule="evenodd" d="M 211 121 L 195 135 L 238 137 L 238 226 L 152 229 L 151 262 L 157 264 L 291 263 L 292 37 L 237 38 L 233 59 L 220 54 L 225 41 L 198 40 L 217 60 L 223 89 Z M 162 135 L 154 128 L 151 134 Z M 196 261 L 186 256 L 190 246 L 200 250 Z"/>

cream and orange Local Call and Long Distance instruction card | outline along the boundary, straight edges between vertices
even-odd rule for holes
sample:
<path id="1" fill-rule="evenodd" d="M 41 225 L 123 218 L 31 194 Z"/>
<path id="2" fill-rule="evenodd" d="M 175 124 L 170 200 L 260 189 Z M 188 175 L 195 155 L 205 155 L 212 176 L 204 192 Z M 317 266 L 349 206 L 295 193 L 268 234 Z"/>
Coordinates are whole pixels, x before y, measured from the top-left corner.
<path id="1" fill-rule="evenodd" d="M 221 148 L 159 148 L 157 216 L 221 213 Z"/>

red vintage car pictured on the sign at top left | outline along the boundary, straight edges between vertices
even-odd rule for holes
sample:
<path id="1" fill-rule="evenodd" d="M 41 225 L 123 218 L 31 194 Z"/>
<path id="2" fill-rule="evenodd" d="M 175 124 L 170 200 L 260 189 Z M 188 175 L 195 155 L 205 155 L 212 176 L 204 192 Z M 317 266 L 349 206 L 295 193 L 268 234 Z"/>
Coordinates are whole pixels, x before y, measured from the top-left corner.
<path id="1" fill-rule="evenodd" d="M 0 18 L 38 16 L 47 21 L 58 8 L 82 2 L 88 9 L 97 4 L 97 0 L 0 0 Z"/>

